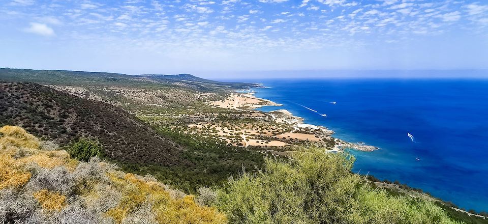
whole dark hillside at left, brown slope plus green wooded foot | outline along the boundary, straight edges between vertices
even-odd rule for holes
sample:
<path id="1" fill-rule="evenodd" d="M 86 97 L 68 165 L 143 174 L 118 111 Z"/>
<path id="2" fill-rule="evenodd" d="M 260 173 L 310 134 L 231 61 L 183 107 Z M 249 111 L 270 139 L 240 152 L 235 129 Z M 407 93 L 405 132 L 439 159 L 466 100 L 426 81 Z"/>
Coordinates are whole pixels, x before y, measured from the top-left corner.
<path id="1" fill-rule="evenodd" d="M 104 157 L 125 171 L 153 174 L 187 192 L 223 185 L 243 167 L 253 171 L 264 162 L 260 151 L 166 129 L 155 131 L 116 106 L 35 83 L 0 81 L 0 125 L 21 126 L 61 146 L 82 136 L 93 138 L 103 146 Z"/>

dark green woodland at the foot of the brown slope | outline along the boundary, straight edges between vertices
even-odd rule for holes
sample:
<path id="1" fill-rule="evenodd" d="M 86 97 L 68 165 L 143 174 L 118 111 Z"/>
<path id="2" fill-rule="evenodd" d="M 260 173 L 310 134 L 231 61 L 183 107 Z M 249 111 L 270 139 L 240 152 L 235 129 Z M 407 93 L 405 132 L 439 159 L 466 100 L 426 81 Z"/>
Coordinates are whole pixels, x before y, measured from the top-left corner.
<path id="1" fill-rule="evenodd" d="M 222 187 L 227 183 L 229 176 L 236 176 L 242 170 L 254 173 L 264 165 L 266 153 L 257 148 L 227 146 L 216 139 L 189 135 L 169 128 L 159 128 L 158 132 L 185 146 L 182 158 L 192 165 L 118 163 L 119 166 L 126 172 L 139 175 L 150 173 L 158 180 L 186 192 L 195 193 L 200 187 Z"/>

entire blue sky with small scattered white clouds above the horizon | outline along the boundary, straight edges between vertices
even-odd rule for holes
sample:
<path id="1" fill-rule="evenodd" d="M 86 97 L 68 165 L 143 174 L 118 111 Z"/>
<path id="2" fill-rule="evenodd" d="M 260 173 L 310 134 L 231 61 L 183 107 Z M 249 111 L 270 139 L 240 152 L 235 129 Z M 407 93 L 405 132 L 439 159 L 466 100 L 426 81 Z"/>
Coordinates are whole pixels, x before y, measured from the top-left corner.
<path id="1" fill-rule="evenodd" d="M 0 67 L 125 74 L 488 69 L 488 1 L 0 0 L 0 49 Z"/>

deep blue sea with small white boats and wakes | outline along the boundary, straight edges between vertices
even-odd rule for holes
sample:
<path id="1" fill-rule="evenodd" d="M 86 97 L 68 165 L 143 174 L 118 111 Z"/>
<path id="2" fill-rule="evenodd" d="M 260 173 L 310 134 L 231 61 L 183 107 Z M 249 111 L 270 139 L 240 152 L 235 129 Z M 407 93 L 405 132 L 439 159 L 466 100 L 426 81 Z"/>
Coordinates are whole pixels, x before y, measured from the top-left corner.
<path id="1" fill-rule="evenodd" d="M 353 151 L 355 172 L 398 180 L 461 208 L 488 211 L 488 79 L 258 82 L 269 89 L 255 89 L 257 97 L 284 104 L 263 110 L 285 108 L 306 123 L 334 130 L 336 137 L 381 148 Z"/>

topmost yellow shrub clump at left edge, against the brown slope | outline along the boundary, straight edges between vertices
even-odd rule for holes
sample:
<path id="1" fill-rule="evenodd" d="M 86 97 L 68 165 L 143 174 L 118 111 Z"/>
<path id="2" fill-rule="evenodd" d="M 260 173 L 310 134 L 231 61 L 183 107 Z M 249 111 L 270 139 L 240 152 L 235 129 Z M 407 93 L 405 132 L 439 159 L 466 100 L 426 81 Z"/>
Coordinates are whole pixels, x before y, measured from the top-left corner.
<path id="1" fill-rule="evenodd" d="M 0 128 L 0 145 L 13 145 L 16 147 L 25 147 L 39 149 L 40 142 L 37 137 L 27 133 L 23 128 L 6 125 Z"/>

